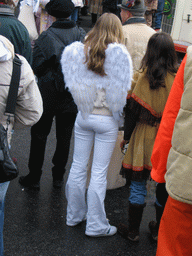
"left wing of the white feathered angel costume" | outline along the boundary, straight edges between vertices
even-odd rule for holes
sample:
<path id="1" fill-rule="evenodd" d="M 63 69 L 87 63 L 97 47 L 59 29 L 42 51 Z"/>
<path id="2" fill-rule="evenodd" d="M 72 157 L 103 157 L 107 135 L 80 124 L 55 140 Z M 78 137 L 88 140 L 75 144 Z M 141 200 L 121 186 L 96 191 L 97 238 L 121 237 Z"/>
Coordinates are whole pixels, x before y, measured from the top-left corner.
<path id="1" fill-rule="evenodd" d="M 74 42 L 65 47 L 61 56 L 61 67 L 66 87 L 71 92 L 73 99 L 86 118 L 92 111 L 96 96 L 93 72 L 90 72 L 85 62 L 84 45 Z"/>

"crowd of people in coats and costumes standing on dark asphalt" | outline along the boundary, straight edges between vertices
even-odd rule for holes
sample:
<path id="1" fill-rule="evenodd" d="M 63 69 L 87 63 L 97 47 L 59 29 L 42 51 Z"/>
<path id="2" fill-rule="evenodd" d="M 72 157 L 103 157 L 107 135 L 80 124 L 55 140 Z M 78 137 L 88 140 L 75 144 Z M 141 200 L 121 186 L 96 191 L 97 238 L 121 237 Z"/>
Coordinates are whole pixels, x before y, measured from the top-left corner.
<path id="1" fill-rule="evenodd" d="M 156 255 L 191 255 L 192 48 L 188 47 L 179 67 L 171 36 L 159 32 L 164 1 L 91 1 L 93 28 L 87 34 L 77 26 L 82 1 L 28 2 L 35 5 L 36 40 L 15 17 L 15 2 L 0 3 L 0 120 L 4 126 L 15 54 L 22 62 L 9 145 L 18 123 L 31 126 L 29 173 L 19 178 L 20 185 L 40 189 L 47 137 L 55 120 L 55 188 L 64 183 L 74 129 L 73 162 L 65 186 L 67 226 L 86 221 L 87 236 L 118 232 L 139 241 L 146 184 L 152 178 L 157 182 L 156 221 L 149 223 L 149 229 L 158 241 Z M 19 3 L 21 8 L 22 4 L 27 1 Z M 115 227 L 109 224 L 104 200 L 108 167 L 122 125 L 124 139 L 119 147 L 127 149 L 119 171 L 130 189 L 129 225 Z M 0 183 L 1 256 L 8 185 Z"/>

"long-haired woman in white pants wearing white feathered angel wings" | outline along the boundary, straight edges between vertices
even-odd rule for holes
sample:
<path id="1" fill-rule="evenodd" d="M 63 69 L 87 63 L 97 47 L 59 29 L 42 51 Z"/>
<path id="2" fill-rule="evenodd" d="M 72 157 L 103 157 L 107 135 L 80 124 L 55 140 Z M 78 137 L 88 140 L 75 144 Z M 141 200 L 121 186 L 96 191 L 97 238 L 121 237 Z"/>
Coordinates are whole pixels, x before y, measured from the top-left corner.
<path id="1" fill-rule="evenodd" d="M 104 199 L 108 165 L 133 72 L 131 57 L 123 43 L 119 18 L 105 13 L 87 34 L 84 44 L 72 43 L 61 57 L 66 87 L 79 111 L 73 163 L 66 184 L 66 223 L 76 226 L 86 219 L 87 236 L 112 236 L 117 232 L 106 217 Z M 93 145 L 86 200 L 87 164 Z"/>

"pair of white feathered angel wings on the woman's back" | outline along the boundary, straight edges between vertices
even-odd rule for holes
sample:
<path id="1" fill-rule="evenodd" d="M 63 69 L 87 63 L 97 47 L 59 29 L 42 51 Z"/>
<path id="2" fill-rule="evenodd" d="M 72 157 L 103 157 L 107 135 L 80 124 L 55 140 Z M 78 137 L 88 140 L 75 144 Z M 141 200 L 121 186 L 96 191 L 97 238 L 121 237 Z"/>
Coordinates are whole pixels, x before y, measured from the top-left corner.
<path id="1" fill-rule="evenodd" d="M 108 45 L 104 63 L 107 75 L 104 77 L 87 69 L 81 42 L 65 47 L 61 67 L 66 87 L 84 118 L 93 111 L 97 90 L 101 88 L 106 90 L 106 101 L 114 116 L 123 112 L 133 73 L 131 57 L 125 46 L 116 43 Z"/>

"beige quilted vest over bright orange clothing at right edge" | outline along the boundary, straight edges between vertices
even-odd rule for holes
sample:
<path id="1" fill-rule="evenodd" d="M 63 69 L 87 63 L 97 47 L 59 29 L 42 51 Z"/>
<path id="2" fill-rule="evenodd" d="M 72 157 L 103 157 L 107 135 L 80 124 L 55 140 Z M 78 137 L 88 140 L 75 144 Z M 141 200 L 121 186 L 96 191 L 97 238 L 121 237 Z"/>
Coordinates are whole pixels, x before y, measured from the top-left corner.
<path id="1" fill-rule="evenodd" d="M 175 121 L 172 148 L 165 175 L 169 195 L 184 203 L 192 204 L 192 46 L 187 50 L 184 70 L 184 92 Z"/>

